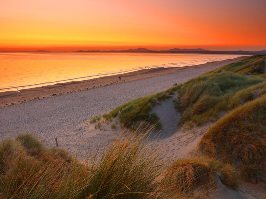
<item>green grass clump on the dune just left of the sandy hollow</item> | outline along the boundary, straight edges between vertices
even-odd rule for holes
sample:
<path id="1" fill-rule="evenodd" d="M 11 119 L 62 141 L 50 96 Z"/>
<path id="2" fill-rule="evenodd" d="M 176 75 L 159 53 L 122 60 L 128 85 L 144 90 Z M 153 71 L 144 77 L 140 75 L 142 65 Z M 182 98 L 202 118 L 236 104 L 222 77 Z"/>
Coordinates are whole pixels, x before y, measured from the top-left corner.
<path id="1" fill-rule="evenodd" d="M 158 105 L 160 101 L 171 98 L 171 95 L 173 95 L 179 87 L 180 85 L 173 86 L 166 91 L 129 101 L 116 107 L 110 113 L 103 114 L 103 118 L 108 120 L 119 114 L 118 119 L 120 124 L 129 128 L 136 129 L 140 125 L 142 125 L 143 129 L 152 125 L 156 125 L 157 128 L 160 128 L 161 125 L 158 122 L 160 118 L 155 113 L 151 113 L 151 110 L 154 106 Z"/>

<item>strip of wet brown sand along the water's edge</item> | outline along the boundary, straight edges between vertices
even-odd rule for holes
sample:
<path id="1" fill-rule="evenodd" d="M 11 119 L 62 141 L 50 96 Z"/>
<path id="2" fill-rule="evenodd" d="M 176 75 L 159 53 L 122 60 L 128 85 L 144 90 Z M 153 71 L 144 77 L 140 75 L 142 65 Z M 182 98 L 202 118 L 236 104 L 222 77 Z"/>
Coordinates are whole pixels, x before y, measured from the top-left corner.
<path id="1" fill-rule="evenodd" d="M 93 88 L 99 88 L 108 85 L 120 84 L 125 82 L 131 82 L 136 80 L 148 79 L 152 77 L 168 75 L 172 73 L 180 73 L 186 70 L 192 70 L 194 68 L 201 68 L 206 66 L 213 66 L 222 64 L 226 65 L 233 63 L 247 56 L 240 56 L 234 59 L 227 59 L 222 61 L 207 62 L 205 64 L 174 67 L 174 68 L 151 68 L 142 69 L 129 73 L 122 73 L 117 75 L 103 76 L 99 78 L 82 80 L 82 81 L 70 81 L 66 83 L 57 83 L 52 85 L 46 85 L 35 88 L 22 89 L 17 91 L 5 91 L 0 93 L 0 108 L 21 104 L 29 101 L 36 101 L 40 99 L 62 96 L 69 93 L 90 90 Z M 121 79 L 119 79 L 119 76 Z M 175 82 L 173 82 L 174 84 Z"/>

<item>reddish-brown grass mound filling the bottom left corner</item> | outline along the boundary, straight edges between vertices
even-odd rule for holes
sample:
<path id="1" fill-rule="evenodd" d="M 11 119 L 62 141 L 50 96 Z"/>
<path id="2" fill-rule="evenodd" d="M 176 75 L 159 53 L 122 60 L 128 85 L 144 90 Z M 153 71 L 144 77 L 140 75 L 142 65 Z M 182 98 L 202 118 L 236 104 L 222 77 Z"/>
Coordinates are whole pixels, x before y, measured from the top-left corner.
<path id="1" fill-rule="evenodd" d="M 72 198 L 86 172 L 67 152 L 46 149 L 31 134 L 0 143 L 0 198 Z"/>

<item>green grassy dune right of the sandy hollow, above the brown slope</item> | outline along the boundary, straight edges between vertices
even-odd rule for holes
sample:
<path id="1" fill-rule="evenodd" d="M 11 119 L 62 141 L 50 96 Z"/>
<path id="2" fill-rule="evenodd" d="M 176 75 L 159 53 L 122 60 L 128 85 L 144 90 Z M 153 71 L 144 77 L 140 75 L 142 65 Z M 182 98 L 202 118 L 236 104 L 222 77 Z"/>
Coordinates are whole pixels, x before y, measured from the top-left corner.
<path id="1" fill-rule="evenodd" d="M 218 118 L 220 111 L 230 111 L 253 100 L 255 89 L 265 90 L 266 78 L 259 75 L 263 73 L 265 58 L 264 55 L 247 57 L 179 86 L 175 105 L 181 113 L 179 125 L 189 121 L 200 125 L 211 118 Z M 245 76 L 242 73 L 254 75 Z"/>

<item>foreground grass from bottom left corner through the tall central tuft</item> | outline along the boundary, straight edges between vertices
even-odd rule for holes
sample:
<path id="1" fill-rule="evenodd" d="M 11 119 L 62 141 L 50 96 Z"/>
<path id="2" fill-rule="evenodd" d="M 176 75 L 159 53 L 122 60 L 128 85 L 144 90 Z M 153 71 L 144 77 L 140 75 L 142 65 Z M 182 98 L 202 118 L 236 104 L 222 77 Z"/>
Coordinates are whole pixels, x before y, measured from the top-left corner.
<path id="1" fill-rule="evenodd" d="M 145 144 L 147 134 L 114 140 L 80 163 L 66 151 L 46 148 L 31 134 L 0 143 L 0 198 L 171 198 L 167 165 Z"/>

